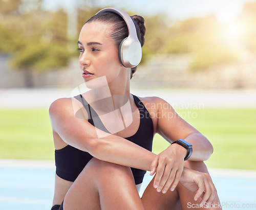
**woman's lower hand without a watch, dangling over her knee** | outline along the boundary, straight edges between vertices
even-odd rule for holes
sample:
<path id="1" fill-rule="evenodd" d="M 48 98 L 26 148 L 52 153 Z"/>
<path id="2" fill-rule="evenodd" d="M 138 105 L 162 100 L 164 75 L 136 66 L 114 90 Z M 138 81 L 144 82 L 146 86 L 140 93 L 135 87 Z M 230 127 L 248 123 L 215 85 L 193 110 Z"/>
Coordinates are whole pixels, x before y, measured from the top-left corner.
<path id="1" fill-rule="evenodd" d="M 189 191 L 196 193 L 194 200 L 202 198 L 201 205 L 212 204 L 217 195 L 217 190 L 210 175 L 184 167 L 180 183 Z"/>

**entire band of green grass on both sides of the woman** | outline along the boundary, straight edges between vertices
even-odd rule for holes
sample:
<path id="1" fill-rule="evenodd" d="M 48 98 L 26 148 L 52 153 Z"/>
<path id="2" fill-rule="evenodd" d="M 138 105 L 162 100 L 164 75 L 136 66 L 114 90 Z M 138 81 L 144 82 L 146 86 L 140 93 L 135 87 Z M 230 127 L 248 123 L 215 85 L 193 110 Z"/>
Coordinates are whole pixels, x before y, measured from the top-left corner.
<path id="1" fill-rule="evenodd" d="M 178 110 L 214 146 L 211 168 L 256 170 L 256 109 Z M 54 159 L 47 109 L 0 110 L 0 158 Z M 153 151 L 168 147 L 156 135 Z"/>

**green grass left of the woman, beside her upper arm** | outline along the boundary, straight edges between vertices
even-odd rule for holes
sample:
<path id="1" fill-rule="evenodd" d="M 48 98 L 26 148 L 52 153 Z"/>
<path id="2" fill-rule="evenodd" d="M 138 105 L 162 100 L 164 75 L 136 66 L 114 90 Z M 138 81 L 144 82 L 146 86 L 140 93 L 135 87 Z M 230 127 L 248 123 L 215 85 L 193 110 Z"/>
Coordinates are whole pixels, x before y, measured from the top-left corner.
<path id="1" fill-rule="evenodd" d="M 47 109 L 0 109 L 0 158 L 54 159 Z"/>

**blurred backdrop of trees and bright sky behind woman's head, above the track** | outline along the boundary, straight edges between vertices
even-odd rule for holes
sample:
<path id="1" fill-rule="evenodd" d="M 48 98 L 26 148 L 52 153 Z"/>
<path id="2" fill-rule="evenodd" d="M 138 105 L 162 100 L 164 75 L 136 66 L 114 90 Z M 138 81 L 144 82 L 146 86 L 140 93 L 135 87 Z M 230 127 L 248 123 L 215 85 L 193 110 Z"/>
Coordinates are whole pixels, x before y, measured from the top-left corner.
<path id="1" fill-rule="evenodd" d="M 0 88 L 82 83 L 79 31 L 113 5 L 145 18 L 134 87 L 256 88 L 256 1 L 154 2 L 0 0 Z"/>

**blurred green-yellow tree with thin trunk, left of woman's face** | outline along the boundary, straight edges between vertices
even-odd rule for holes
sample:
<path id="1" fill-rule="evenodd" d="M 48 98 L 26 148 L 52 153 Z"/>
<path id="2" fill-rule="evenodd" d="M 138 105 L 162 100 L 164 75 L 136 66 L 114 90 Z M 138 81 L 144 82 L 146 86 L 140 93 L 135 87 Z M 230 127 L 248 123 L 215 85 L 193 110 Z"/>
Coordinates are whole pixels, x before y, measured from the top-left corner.
<path id="1" fill-rule="evenodd" d="M 42 10 L 41 0 L 1 2 L 4 20 L 0 24 L 0 52 L 12 55 L 11 64 L 24 73 L 27 87 L 33 87 L 32 72 L 66 66 L 67 14 L 63 10 Z"/>

